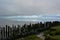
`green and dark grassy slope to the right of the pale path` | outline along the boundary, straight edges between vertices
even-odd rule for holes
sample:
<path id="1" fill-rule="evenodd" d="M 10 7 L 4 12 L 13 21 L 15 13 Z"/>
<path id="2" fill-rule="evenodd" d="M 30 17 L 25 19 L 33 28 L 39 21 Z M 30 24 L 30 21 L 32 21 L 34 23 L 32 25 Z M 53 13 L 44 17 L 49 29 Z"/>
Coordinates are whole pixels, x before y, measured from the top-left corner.
<path id="1" fill-rule="evenodd" d="M 47 31 L 46 40 L 60 40 L 60 26 L 51 27 L 49 31 Z"/>

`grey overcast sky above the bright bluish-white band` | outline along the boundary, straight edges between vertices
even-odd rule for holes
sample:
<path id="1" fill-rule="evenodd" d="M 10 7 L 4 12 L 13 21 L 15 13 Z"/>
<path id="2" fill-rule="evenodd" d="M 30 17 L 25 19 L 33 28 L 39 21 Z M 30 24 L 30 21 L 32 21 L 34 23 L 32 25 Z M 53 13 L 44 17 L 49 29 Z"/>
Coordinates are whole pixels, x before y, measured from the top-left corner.
<path id="1" fill-rule="evenodd" d="M 0 0 L 0 15 L 60 14 L 60 0 Z"/>

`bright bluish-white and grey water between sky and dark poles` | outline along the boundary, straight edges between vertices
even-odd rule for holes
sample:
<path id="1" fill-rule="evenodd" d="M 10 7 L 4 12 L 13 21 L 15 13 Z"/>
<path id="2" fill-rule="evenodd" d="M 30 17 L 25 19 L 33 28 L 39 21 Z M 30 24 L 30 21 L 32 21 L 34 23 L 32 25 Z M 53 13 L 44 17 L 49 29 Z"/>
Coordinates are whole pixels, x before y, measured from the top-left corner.
<path id="1" fill-rule="evenodd" d="M 56 15 L 30 15 L 30 16 L 0 16 L 0 25 L 11 25 L 11 24 L 29 24 L 46 21 L 60 21 L 60 16 Z"/>

